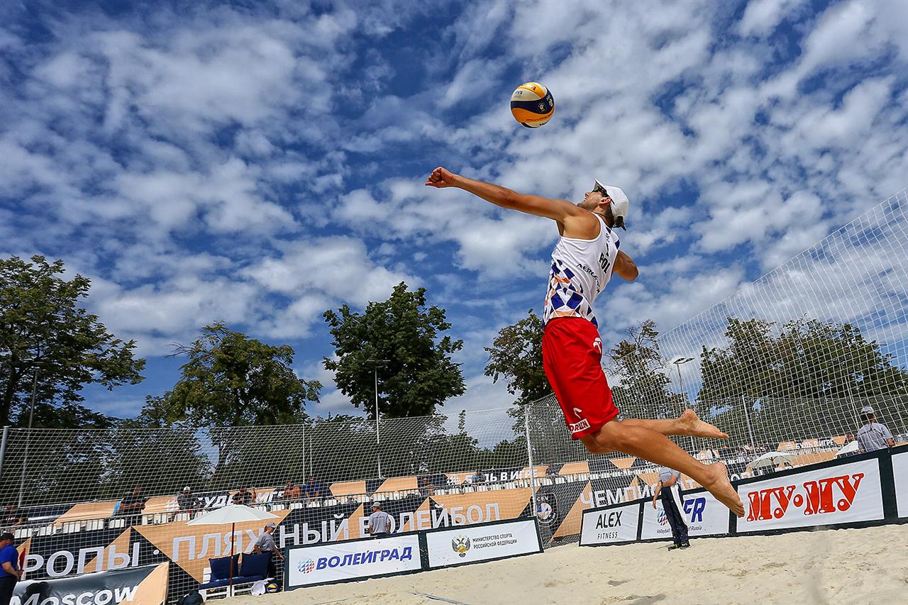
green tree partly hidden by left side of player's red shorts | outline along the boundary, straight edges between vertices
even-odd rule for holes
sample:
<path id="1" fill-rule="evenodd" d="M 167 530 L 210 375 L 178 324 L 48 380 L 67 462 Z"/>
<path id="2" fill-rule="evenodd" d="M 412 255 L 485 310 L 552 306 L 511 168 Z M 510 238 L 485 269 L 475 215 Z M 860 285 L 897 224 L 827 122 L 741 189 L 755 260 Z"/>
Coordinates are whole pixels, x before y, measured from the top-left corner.
<path id="1" fill-rule="evenodd" d="M 527 317 L 501 328 L 492 346 L 486 347 L 486 375 L 492 382 L 499 378 L 508 381 L 508 392 L 518 395 L 514 401 L 517 405 L 535 402 L 552 392 L 542 367 L 543 328 L 542 320 L 530 309 Z"/>

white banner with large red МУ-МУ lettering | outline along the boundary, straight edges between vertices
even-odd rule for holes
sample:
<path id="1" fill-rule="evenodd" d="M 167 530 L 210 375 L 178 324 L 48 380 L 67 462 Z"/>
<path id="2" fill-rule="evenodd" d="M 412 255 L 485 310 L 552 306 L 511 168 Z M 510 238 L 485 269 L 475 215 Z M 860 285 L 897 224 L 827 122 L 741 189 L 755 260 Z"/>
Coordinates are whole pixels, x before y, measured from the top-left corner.
<path id="1" fill-rule="evenodd" d="M 745 506 L 738 533 L 883 519 L 875 458 L 744 483 L 737 491 Z"/>

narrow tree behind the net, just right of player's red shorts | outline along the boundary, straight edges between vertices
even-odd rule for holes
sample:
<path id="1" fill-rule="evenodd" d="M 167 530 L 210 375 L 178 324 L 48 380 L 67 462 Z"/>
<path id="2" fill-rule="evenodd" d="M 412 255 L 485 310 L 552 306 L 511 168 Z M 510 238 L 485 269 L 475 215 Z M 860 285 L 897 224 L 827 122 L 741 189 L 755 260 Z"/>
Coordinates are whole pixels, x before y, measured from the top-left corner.
<path id="1" fill-rule="evenodd" d="M 670 418 L 686 406 L 683 395 L 671 391 L 668 363 L 659 352 L 656 322 L 646 320 L 627 329 L 629 338 L 608 352 L 611 372 L 620 377 L 612 397 L 630 418 Z"/>

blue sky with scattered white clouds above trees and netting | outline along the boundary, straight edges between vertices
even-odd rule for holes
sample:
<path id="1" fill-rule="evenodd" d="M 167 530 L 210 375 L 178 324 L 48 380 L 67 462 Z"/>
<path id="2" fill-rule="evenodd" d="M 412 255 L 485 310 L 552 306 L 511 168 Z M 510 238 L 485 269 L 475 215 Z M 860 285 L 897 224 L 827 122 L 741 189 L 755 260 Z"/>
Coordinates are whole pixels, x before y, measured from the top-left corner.
<path id="1" fill-rule="evenodd" d="M 465 340 L 468 392 L 498 330 L 540 309 L 554 223 L 423 186 L 436 165 L 579 200 L 631 201 L 636 283 L 603 338 L 719 302 L 908 174 L 908 3 L 4 3 L 0 254 L 62 258 L 148 359 L 88 404 L 138 412 L 215 320 L 321 359 L 321 313 L 428 288 Z M 522 128 L 508 98 L 546 84 Z"/>

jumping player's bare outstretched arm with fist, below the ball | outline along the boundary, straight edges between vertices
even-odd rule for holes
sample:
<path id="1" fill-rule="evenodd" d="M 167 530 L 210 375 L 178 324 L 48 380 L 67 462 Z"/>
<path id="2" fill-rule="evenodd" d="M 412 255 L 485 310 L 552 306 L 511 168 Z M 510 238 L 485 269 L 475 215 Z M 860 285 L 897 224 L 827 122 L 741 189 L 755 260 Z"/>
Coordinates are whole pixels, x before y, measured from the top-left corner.
<path id="1" fill-rule="evenodd" d="M 553 200 L 541 195 L 517 193 L 512 189 L 501 187 L 497 184 L 468 179 L 465 176 L 454 174 L 441 166 L 433 170 L 432 174 L 429 174 L 426 186 L 437 189 L 458 187 L 502 208 L 545 216 L 553 221 L 558 221 L 558 223 L 565 223 L 566 219 L 575 216 L 586 219 L 586 215 L 589 214 L 586 210 L 577 207 L 576 204 L 570 203 L 568 200 Z"/>

